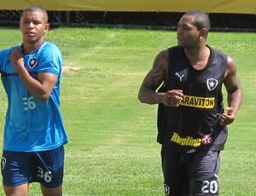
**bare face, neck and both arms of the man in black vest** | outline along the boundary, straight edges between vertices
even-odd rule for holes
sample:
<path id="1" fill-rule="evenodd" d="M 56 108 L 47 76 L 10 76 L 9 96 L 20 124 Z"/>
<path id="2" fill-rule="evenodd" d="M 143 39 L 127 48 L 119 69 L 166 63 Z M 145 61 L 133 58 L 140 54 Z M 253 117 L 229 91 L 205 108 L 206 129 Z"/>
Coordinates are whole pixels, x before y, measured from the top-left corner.
<path id="1" fill-rule="evenodd" d="M 193 16 L 183 15 L 178 23 L 177 44 L 183 47 L 191 66 L 201 70 L 207 66 L 210 58 L 210 49 L 207 48 L 207 28 L 198 30 L 193 24 Z M 156 89 L 166 82 L 169 55 L 167 50 L 162 50 L 154 59 L 154 64 L 143 80 L 138 93 L 138 99 L 147 104 L 163 103 L 167 107 L 178 107 L 183 101 L 182 89 L 172 89 L 165 93 L 156 92 Z M 227 69 L 224 74 L 224 86 L 227 90 L 228 107 L 226 113 L 219 114 L 219 123 L 227 125 L 233 123 L 236 113 L 241 106 L 243 94 L 239 78 L 236 75 L 236 63 L 229 56 Z"/>

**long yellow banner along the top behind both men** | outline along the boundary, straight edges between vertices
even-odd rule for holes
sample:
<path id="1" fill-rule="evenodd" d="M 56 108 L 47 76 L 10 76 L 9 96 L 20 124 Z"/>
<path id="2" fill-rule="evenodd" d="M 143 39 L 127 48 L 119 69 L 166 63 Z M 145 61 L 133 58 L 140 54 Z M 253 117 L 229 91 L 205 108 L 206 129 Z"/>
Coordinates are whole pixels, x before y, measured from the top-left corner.
<path id="1" fill-rule="evenodd" d="M 0 9 L 25 9 L 35 4 L 60 11 L 143 11 L 255 14 L 256 0 L 0 0 Z"/>

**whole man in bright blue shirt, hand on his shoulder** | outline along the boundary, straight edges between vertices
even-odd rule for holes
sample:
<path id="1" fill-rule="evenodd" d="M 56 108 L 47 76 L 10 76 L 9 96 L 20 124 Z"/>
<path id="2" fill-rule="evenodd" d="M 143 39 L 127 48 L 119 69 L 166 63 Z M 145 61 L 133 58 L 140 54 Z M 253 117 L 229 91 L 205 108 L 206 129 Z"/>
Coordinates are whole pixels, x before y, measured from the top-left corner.
<path id="1" fill-rule="evenodd" d="M 0 51 L 8 95 L 2 174 L 6 195 L 27 195 L 39 182 L 44 195 L 62 195 L 63 145 L 68 142 L 60 111 L 61 51 L 44 41 L 48 14 L 38 6 L 20 17 L 23 42 Z"/>

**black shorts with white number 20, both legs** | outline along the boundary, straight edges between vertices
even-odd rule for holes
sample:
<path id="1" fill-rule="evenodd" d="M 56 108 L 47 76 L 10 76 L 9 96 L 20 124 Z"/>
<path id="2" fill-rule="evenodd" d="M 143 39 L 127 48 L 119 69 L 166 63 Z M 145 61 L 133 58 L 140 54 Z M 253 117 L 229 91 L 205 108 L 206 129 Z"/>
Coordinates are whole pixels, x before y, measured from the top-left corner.
<path id="1" fill-rule="evenodd" d="M 163 146 L 161 158 L 166 195 L 218 195 L 218 151 L 180 154 Z"/>

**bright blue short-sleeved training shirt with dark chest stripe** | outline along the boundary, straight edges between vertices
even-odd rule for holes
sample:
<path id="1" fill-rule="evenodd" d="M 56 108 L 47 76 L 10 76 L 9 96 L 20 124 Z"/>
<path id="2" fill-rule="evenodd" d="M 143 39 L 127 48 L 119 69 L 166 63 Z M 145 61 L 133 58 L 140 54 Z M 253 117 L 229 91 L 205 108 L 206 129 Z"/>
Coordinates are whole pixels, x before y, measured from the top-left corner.
<path id="1" fill-rule="evenodd" d="M 44 42 L 38 50 L 23 55 L 32 78 L 37 79 L 38 72 L 49 72 L 58 78 L 49 100 L 42 102 L 30 94 L 9 61 L 15 47 L 0 50 L 1 79 L 9 102 L 3 150 L 36 152 L 60 147 L 68 142 L 60 111 L 61 51 L 54 43 Z"/>

